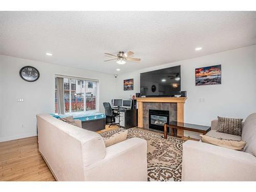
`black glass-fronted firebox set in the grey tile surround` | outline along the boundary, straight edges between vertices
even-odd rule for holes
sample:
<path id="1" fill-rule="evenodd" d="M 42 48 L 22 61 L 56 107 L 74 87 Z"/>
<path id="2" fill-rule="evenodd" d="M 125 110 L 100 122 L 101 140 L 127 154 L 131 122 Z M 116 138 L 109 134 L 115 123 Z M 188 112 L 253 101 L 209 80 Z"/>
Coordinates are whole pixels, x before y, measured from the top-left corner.
<path id="1" fill-rule="evenodd" d="M 148 127 L 150 129 L 163 131 L 165 123 L 169 124 L 169 111 L 149 110 Z"/>

